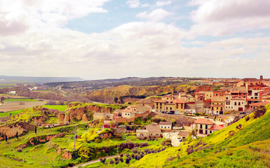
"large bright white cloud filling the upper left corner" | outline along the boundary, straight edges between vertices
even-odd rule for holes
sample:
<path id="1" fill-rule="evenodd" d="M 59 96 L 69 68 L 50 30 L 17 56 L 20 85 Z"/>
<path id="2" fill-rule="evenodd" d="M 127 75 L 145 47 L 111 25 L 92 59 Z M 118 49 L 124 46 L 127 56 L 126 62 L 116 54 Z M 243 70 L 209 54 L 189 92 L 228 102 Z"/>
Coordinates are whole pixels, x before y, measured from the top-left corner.
<path id="1" fill-rule="evenodd" d="M 109 0 L 0 0 L 0 36 L 17 34 L 29 27 L 60 27 L 89 13 L 106 13 Z"/>

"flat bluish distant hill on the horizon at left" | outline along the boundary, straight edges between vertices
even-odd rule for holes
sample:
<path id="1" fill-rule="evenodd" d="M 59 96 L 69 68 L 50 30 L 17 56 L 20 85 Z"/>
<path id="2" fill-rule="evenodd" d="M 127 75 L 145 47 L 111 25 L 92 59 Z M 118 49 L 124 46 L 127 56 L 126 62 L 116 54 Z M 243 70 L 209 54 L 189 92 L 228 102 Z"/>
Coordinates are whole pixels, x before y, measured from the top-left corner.
<path id="1" fill-rule="evenodd" d="M 54 83 L 83 81 L 78 77 L 0 76 L 0 83 Z"/>

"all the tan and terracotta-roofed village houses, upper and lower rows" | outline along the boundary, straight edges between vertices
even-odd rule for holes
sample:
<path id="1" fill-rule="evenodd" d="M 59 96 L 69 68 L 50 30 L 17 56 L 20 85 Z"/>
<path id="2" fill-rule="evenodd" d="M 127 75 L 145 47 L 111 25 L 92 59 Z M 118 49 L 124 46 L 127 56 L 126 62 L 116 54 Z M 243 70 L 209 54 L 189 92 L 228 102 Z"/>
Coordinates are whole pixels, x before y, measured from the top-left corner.
<path id="1" fill-rule="evenodd" d="M 162 132 L 178 132 L 178 139 L 185 139 L 196 130 L 196 135 L 206 137 L 215 131 L 227 127 L 227 123 L 234 120 L 233 116 L 224 115 L 225 112 L 237 111 L 245 113 L 248 109 L 252 111 L 258 106 L 270 103 L 270 80 L 256 78 L 244 78 L 233 82 L 220 82 L 223 87 L 219 90 L 204 90 L 194 92 L 193 95 L 180 92 L 177 95 L 167 94 L 161 99 L 141 99 L 136 105 L 122 110 L 115 110 L 107 116 L 102 128 L 116 128 L 119 132 L 128 131 L 125 125 L 118 123 L 134 122 L 138 117 L 148 116 L 152 111 L 171 115 L 197 116 L 205 113 L 215 116 L 215 120 L 208 118 L 197 118 L 192 125 L 185 125 L 180 130 L 173 127 L 171 122 L 160 122 L 146 125 L 144 130 L 136 130 L 136 137 L 141 139 L 155 139 L 162 137 Z M 215 83 L 217 85 L 217 83 Z M 94 117 L 95 118 L 95 117 Z"/>

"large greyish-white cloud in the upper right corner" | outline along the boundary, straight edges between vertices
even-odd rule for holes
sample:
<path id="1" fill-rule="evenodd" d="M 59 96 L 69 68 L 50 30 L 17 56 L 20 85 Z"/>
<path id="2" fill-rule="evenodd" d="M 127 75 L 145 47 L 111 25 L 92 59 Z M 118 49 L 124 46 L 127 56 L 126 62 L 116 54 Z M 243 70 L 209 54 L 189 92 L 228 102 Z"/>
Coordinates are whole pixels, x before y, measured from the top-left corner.
<path id="1" fill-rule="evenodd" d="M 268 0 L 211 0 L 192 4 L 199 5 L 191 16 L 195 22 L 191 28 L 194 36 L 226 36 L 236 31 L 270 28 Z"/>

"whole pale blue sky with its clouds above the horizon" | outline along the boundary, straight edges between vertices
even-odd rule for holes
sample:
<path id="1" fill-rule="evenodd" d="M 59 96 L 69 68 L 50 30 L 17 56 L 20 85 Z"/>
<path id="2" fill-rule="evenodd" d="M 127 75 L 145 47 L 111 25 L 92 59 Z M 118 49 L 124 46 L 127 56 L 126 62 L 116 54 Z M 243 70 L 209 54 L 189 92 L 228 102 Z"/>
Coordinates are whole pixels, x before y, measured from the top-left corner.
<path id="1" fill-rule="evenodd" d="M 0 75 L 270 78 L 269 0 L 0 0 Z"/>

